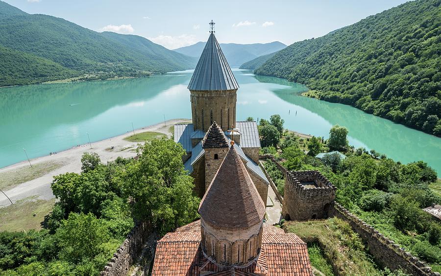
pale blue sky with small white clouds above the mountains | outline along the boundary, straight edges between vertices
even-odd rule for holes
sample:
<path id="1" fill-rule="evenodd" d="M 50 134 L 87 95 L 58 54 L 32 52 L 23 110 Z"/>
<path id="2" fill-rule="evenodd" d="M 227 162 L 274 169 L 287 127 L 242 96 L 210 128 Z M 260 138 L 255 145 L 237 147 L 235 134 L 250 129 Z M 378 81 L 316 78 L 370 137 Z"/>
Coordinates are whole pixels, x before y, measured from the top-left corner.
<path id="1" fill-rule="evenodd" d="M 208 38 L 267 43 L 320 37 L 405 0 L 5 0 L 27 13 L 64 18 L 83 27 L 146 37 L 173 49 Z"/>

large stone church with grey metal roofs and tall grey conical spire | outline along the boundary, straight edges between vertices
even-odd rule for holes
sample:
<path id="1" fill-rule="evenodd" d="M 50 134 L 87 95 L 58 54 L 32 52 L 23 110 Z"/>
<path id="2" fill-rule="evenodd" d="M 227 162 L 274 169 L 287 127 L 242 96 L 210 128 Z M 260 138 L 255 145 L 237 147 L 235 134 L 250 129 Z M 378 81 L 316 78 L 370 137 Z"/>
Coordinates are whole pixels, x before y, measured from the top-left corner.
<path id="1" fill-rule="evenodd" d="M 192 106 L 192 124 L 174 126 L 174 140 L 186 155 L 184 167 L 195 179 L 196 194 L 202 198 L 228 151 L 228 142 L 235 148 L 267 202 L 267 177 L 259 167 L 260 140 L 255 121 L 236 121 L 236 96 L 239 85 L 221 47 L 211 32 L 188 85 Z"/>

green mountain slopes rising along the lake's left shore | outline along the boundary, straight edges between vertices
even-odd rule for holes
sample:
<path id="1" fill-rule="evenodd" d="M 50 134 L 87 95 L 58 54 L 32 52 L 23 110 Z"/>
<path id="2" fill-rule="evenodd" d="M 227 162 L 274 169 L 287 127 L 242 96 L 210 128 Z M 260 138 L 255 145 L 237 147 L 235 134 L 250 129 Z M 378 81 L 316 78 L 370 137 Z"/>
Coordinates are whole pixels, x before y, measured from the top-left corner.
<path id="1" fill-rule="evenodd" d="M 139 36 L 98 33 L 61 18 L 30 15 L 2 1 L 0 46 L 15 50 L 16 60 L 22 62 L 16 64 L 15 69 L 23 68 L 26 71 L 30 64 L 25 62 L 25 57 L 18 58 L 20 53 L 26 53 L 27 58 L 39 57 L 33 59 L 36 63 L 47 64 L 47 61 L 51 61 L 58 64 L 64 68 L 63 72 L 71 72 L 70 76 L 76 76 L 78 72 L 93 73 L 98 78 L 142 76 L 191 69 L 197 62 L 196 58 L 176 53 Z M 36 69 L 38 67 L 34 66 Z M 1 85 L 27 84 L 30 81 L 6 81 L 14 78 L 24 80 L 26 75 L 15 75 L 17 71 L 13 68 L 5 72 L 6 75 L 0 76 L 3 81 Z M 42 72 L 31 82 L 53 77 L 53 74 Z"/>

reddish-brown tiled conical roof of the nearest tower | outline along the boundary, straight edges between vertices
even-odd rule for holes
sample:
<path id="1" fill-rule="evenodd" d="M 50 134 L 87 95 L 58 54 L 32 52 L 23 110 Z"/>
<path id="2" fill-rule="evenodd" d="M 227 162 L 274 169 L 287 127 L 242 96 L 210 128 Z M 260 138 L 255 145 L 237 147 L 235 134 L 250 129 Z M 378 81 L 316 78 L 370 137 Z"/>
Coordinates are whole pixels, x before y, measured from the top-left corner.
<path id="1" fill-rule="evenodd" d="M 201 218 L 217 227 L 248 228 L 263 220 L 265 204 L 234 145 L 199 205 Z"/>

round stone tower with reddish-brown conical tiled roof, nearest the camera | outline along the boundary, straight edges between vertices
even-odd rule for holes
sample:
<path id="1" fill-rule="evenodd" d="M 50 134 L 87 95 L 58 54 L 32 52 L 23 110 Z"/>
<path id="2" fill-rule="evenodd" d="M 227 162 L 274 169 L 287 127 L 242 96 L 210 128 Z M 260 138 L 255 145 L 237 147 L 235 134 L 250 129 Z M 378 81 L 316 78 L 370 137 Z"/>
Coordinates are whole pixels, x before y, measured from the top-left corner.
<path id="1" fill-rule="evenodd" d="M 206 258 L 236 267 L 257 260 L 265 205 L 233 145 L 200 202 L 199 214 Z"/>

